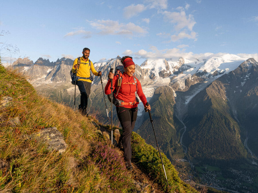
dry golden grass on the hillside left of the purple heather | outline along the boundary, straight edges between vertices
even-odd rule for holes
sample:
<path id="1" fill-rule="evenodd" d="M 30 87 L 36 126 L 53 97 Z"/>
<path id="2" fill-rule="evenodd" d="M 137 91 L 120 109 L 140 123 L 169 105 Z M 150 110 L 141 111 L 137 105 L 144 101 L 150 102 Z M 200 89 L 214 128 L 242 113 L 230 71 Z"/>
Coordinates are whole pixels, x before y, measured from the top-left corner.
<path id="1" fill-rule="evenodd" d="M 13 98 L 0 110 L 0 161 L 5 163 L 0 192 L 116 192 L 116 185 L 100 174 L 100 168 L 86 162 L 91 142 L 98 137 L 89 118 L 38 96 L 24 77 L 1 65 L 0 81 L 0 98 Z M 7 124 L 13 117 L 19 117 L 20 126 Z M 62 155 L 49 151 L 33 135 L 47 127 L 63 134 L 68 146 Z"/>

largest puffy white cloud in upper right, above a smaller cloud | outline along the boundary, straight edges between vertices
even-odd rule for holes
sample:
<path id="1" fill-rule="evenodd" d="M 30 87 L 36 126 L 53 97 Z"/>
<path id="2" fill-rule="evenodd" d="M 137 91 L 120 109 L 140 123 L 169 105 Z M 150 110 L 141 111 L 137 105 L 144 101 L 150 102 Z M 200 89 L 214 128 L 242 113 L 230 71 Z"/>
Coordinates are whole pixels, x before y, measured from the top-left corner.
<path id="1" fill-rule="evenodd" d="M 185 11 L 181 11 L 180 13 L 164 11 L 163 14 L 165 15 L 165 18 L 168 19 L 171 23 L 175 23 L 176 30 L 181 30 L 187 27 L 190 31 L 192 31 L 193 26 L 196 24 L 193 15 L 189 14 L 187 16 Z"/>

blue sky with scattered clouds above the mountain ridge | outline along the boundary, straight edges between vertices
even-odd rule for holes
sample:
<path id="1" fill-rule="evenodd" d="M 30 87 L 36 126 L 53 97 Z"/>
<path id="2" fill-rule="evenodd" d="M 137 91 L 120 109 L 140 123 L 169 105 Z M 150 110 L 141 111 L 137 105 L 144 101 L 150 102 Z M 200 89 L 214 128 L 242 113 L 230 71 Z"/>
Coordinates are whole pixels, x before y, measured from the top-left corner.
<path id="1" fill-rule="evenodd" d="M 34 62 L 74 59 L 84 47 L 93 62 L 131 55 L 140 65 L 209 53 L 258 59 L 257 7 L 257 0 L 1 1 L 0 32 L 9 33 L 0 43 Z"/>

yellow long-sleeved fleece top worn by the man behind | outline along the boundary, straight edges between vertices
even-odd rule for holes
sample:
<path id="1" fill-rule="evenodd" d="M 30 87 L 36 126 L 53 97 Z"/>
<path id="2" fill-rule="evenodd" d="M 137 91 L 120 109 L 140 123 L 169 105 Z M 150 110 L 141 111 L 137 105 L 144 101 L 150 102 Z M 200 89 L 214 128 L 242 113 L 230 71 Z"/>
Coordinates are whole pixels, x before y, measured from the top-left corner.
<path id="1" fill-rule="evenodd" d="M 73 68 L 72 68 L 72 72 L 75 72 L 75 68 L 74 68 L 74 65 L 78 63 L 78 58 L 76 58 L 73 62 Z M 90 70 L 92 71 L 92 73 L 95 75 L 95 76 L 99 76 L 99 73 L 95 70 L 94 66 L 93 66 L 93 63 L 91 61 L 91 63 L 89 64 L 89 59 L 87 59 L 87 61 L 85 61 L 83 59 L 83 57 L 81 57 L 81 64 L 77 70 L 77 76 L 79 77 L 90 77 Z M 87 82 L 91 82 L 90 79 L 79 79 L 79 80 L 82 80 L 82 81 L 87 81 Z"/>

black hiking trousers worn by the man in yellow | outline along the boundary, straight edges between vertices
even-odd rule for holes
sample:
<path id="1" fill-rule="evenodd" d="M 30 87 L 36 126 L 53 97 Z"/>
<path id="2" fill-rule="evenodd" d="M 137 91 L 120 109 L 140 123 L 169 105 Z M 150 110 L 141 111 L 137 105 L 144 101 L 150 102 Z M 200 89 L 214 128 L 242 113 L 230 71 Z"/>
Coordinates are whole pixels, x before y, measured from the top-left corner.
<path id="1" fill-rule="evenodd" d="M 81 104 L 79 105 L 79 111 L 81 111 L 82 114 L 86 115 L 88 98 L 89 98 L 89 94 L 91 93 L 91 82 L 78 80 L 77 85 L 81 93 Z"/>

